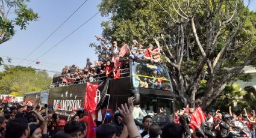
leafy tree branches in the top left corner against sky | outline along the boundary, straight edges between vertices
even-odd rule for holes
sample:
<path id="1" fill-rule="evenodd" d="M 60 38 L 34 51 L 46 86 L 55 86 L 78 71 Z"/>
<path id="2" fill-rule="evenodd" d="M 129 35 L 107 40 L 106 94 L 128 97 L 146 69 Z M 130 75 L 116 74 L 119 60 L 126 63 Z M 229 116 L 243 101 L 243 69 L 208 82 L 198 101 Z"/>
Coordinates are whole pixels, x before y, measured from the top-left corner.
<path id="1" fill-rule="evenodd" d="M 28 22 L 39 18 L 37 13 L 27 8 L 26 2 L 29 0 L 2 0 L 0 2 L 0 44 L 13 37 L 14 26 L 26 29 Z M 1 63 L 0 57 L 0 65 Z"/>

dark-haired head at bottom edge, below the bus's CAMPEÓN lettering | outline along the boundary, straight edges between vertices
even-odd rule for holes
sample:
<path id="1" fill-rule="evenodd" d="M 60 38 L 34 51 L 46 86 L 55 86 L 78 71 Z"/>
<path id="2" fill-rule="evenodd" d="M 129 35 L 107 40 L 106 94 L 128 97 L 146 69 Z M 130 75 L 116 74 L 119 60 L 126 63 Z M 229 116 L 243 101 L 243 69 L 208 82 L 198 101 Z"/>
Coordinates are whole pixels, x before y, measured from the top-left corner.
<path id="1" fill-rule="evenodd" d="M 69 134 L 70 137 L 81 137 L 84 131 L 83 126 L 79 122 L 67 122 L 64 127 L 64 132 Z"/>

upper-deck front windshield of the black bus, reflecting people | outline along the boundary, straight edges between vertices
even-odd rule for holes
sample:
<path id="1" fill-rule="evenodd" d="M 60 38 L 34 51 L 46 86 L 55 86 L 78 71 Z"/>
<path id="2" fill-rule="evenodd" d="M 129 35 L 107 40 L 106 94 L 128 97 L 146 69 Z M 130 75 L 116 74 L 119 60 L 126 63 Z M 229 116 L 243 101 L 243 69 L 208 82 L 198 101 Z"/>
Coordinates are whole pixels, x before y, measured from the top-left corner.
<path id="1" fill-rule="evenodd" d="M 151 88 L 172 91 L 169 73 L 163 64 L 146 61 L 132 63 L 132 82 L 134 88 Z"/>

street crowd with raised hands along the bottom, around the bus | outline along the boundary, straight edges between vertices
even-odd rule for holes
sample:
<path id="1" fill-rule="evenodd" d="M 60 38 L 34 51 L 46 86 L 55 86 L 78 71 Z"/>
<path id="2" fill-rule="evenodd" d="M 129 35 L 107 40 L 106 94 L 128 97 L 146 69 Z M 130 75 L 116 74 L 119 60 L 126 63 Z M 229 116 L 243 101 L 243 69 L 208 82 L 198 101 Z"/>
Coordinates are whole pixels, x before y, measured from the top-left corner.
<path id="1" fill-rule="evenodd" d="M 95 128 L 91 129 L 95 135 L 91 133 L 90 136 L 87 134 L 92 126 L 87 127 L 89 117 L 86 116 L 83 108 L 74 109 L 67 119 L 63 119 L 55 113 L 58 109 L 50 110 L 48 107 L 40 106 L 39 102 L 34 105 L 2 103 L 0 137 L 229 137 L 236 131 L 239 133 L 235 134 L 244 131 L 244 137 L 255 137 L 254 110 L 248 113 L 246 109 L 243 109 L 243 114 L 239 115 L 233 113 L 231 107 L 228 113 L 220 113 L 220 110 L 205 112 L 206 119 L 202 123 L 206 125 L 199 126 L 204 126 L 201 131 L 203 133 L 199 133 L 200 131 L 193 130 L 190 125 L 193 121 L 193 112 L 196 112 L 193 108 L 177 110 L 173 120 L 158 124 L 158 121 L 154 119 L 155 113 L 152 107 L 146 111 L 137 111 L 140 108 L 134 106 L 133 103 L 134 97 L 130 97 L 127 103 L 121 104 L 114 113 L 112 122 L 108 124 L 101 121 L 95 122 Z M 163 115 L 168 114 L 164 112 L 164 109 L 160 110 L 163 111 Z M 136 125 L 136 118 L 139 118 L 139 115 L 136 115 L 137 112 L 144 112 L 140 127 Z M 246 128 L 249 130 L 247 133 Z"/>

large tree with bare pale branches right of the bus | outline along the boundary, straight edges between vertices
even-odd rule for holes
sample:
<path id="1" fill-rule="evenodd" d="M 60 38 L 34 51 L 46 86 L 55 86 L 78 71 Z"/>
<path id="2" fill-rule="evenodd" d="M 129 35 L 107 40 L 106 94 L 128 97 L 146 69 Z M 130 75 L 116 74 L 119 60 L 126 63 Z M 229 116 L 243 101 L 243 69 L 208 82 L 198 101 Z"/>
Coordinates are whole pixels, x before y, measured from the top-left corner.
<path id="1" fill-rule="evenodd" d="M 256 13 L 240 0 L 103 0 L 99 8 L 111 15 L 102 22 L 108 41 L 164 46 L 173 88 L 191 107 L 205 109 L 256 59 Z"/>

